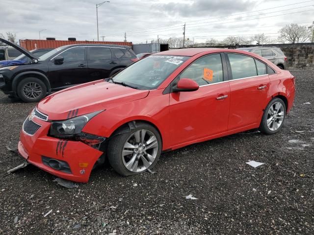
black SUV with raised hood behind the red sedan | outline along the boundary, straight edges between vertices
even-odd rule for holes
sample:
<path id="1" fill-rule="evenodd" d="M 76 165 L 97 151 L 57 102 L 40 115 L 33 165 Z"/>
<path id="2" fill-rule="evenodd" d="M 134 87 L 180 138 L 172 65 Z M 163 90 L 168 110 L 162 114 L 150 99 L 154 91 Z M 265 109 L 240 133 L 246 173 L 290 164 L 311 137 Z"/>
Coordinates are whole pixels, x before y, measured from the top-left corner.
<path id="1" fill-rule="evenodd" d="M 0 41 L 30 58 L 22 65 L 0 68 L 0 90 L 25 102 L 38 102 L 52 92 L 110 77 L 138 60 L 127 46 L 67 45 L 37 57 L 14 43 Z"/>

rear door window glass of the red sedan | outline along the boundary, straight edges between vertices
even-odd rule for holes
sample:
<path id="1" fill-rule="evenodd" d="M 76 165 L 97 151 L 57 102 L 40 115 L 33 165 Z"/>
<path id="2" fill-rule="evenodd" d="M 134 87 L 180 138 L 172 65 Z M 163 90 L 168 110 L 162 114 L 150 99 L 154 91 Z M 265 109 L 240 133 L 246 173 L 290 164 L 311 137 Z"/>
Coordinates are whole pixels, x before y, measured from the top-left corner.
<path id="1" fill-rule="evenodd" d="M 228 58 L 232 71 L 232 79 L 257 76 L 254 58 L 231 53 L 228 54 Z"/>

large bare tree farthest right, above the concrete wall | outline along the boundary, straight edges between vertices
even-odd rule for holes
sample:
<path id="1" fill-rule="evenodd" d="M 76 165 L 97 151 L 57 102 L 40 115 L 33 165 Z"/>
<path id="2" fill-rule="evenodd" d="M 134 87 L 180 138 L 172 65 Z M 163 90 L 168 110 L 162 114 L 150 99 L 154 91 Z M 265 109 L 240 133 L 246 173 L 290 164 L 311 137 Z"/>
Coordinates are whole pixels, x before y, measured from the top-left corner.
<path id="1" fill-rule="evenodd" d="M 311 37 L 311 30 L 299 24 L 287 24 L 279 30 L 279 33 L 278 39 L 284 43 L 304 43 Z"/>

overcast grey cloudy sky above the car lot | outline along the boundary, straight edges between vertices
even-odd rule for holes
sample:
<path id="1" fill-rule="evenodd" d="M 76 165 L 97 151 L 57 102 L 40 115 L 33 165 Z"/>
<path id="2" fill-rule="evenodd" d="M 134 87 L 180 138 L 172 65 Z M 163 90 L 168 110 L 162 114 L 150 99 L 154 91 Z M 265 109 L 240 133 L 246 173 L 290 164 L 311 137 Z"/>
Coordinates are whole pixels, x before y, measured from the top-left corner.
<path id="1" fill-rule="evenodd" d="M 17 39 L 55 37 L 97 40 L 96 3 L 102 0 L 1 1 L 0 32 Z M 149 42 L 172 36 L 195 42 L 228 35 L 264 33 L 276 38 L 285 24 L 311 25 L 314 0 L 110 0 L 98 8 L 99 35 L 105 41 Z M 102 40 L 102 37 L 100 37 Z"/>

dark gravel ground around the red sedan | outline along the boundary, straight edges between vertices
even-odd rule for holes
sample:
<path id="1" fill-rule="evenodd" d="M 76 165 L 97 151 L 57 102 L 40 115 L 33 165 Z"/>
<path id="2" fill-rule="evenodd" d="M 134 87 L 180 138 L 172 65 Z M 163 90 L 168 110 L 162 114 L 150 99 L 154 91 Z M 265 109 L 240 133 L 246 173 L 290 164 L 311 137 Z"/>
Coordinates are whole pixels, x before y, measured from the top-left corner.
<path id="1" fill-rule="evenodd" d="M 0 234 L 314 234 L 314 71 L 291 73 L 296 99 L 280 133 L 239 133 L 168 152 L 157 174 L 124 178 L 100 168 L 74 189 L 31 165 L 5 176 L 23 162 L 5 146 L 16 146 L 34 104 L 1 93 Z"/>

